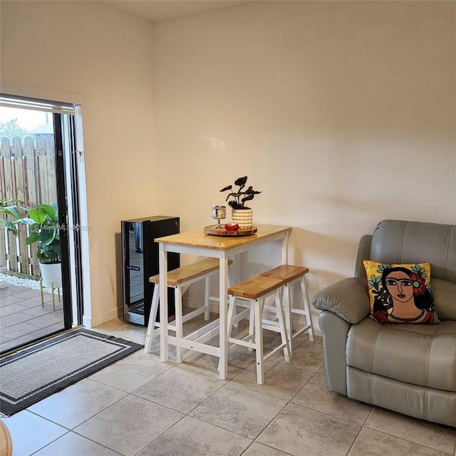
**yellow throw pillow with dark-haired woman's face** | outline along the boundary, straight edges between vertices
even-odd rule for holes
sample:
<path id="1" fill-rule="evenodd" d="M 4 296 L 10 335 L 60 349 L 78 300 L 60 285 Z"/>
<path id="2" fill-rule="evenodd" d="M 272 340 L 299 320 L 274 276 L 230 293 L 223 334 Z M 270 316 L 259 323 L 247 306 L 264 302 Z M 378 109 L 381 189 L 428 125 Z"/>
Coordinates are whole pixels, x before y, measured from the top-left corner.
<path id="1" fill-rule="evenodd" d="M 430 289 L 430 264 L 364 260 L 370 317 L 378 323 L 440 323 Z"/>

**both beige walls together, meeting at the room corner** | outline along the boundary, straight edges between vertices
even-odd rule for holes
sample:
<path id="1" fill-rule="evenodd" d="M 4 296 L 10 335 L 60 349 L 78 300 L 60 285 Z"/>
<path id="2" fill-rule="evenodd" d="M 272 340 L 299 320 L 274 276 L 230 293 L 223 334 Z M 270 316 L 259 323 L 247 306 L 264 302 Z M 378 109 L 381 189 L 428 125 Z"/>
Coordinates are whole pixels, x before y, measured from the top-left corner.
<path id="1" fill-rule="evenodd" d="M 1 81 L 82 95 L 95 323 L 115 314 L 120 220 L 202 229 L 241 175 L 257 223 L 294 227 L 311 295 L 352 274 L 380 219 L 456 223 L 455 9 L 264 1 L 152 27 L 2 1 Z"/>

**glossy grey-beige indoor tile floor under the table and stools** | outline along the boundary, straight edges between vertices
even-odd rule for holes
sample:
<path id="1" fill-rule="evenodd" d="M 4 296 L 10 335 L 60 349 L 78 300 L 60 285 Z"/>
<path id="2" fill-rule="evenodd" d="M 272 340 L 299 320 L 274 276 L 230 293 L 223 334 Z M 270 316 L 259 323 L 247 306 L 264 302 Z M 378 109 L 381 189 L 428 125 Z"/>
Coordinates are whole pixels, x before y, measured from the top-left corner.
<path id="1" fill-rule="evenodd" d="M 117 320 L 95 331 L 145 341 L 145 328 Z M 264 385 L 242 347 L 226 381 L 211 356 L 176 364 L 157 348 L 133 353 L 2 418 L 14 456 L 456 456 L 455 428 L 328 392 L 321 338 L 295 340 L 291 362 L 266 361 Z"/>

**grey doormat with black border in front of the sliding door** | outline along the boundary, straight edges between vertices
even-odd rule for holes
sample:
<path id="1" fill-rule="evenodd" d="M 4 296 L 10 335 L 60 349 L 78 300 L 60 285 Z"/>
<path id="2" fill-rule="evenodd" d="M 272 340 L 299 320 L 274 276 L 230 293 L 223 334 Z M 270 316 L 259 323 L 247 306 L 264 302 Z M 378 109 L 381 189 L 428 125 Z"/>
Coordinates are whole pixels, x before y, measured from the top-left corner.
<path id="1" fill-rule="evenodd" d="M 13 415 L 142 347 L 81 328 L 5 356 L 0 411 Z"/>

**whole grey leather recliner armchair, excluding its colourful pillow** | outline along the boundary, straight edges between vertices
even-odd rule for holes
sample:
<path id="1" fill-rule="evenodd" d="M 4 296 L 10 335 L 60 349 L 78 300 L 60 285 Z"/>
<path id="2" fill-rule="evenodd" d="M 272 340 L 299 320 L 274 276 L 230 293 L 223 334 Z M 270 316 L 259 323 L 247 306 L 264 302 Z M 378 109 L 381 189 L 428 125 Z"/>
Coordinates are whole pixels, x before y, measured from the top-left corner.
<path id="1" fill-rule="evenodd" d="M 441 322 L 380 324 L 369 318 L 363 259 L 430 263 Z M 321 310 L 329 390 L 456 427 L 456 225 L 383 220 L 361 239 L 355 275 L 312 299 Z"/>

